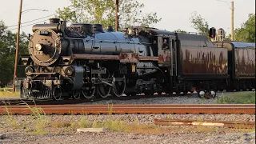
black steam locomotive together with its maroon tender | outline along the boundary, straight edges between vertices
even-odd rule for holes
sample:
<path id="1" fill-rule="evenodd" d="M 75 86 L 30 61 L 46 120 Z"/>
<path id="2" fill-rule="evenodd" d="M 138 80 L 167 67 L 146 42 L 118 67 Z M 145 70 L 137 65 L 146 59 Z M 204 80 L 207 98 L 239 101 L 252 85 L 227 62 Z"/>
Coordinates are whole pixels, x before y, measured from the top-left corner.
<path id="1" fill-rule="evenodd" d="M 215 97 L 217 90 L 233 86 L 234 54 L 214 46 L 206 35 L 142 26 L 118 32 L 111 26 L 104 30 L 101 24 L 66 26 L 58 18 L 32 30 L 30 54 L 22 55 L 18 63 L 25 75 L 22 98 L 106 98 L 194 90 L 200 97 Z M 255 71 L 255 58 L 250 66 Z M 254 88 L 254 80 L 255 73 L 250 74 L 246 88 Z"/>

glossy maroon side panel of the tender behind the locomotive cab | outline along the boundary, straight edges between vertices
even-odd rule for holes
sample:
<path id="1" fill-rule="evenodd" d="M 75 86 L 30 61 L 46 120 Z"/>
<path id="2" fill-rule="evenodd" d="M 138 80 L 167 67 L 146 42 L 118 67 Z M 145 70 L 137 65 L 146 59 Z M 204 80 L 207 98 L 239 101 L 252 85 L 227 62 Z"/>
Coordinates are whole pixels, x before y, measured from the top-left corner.
<path id="1" fill-rule="evenodd" d="M 182 74 L 228 74 L 226 48 L 182 47 Z"/>

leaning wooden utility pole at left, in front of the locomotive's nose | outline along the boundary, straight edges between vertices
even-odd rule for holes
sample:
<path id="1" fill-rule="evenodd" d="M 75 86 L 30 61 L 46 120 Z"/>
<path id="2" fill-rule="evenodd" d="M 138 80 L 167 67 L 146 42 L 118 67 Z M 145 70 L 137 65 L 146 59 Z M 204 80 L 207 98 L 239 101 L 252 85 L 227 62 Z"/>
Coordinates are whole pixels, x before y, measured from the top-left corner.
<path id="1" fill-rule="evenodd" d="M 16 55 L 15 55 L 15 64 L 14 64 L 14 83 L 13 83 L 13 92 L 15 92 L 15 78 L 17 73 L 18 65 L 18 48 L 19 48 L 19 33 L 21 28 L 21 19 L 22 19 L 22 0 L 20 0 L 19 13 L 18 13 L 18 32 L 17 32 L 17 41 L 16 41 Z"/>

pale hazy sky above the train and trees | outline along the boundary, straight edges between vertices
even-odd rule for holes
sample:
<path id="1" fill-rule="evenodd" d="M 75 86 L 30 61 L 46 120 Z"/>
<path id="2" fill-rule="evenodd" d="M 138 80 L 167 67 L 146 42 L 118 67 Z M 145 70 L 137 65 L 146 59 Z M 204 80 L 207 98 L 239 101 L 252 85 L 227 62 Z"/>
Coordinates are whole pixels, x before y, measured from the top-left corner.
<path id="1" fill-rule="evenodd" d="M 154 24 L 155 28 L 196 32 L 190 22 L 191 14 L 196 11 L 205 18 L 210 27 L 215 27 L 217 30 L 223 28 L 226 34 L 230 34 L 231 0 L 138 0 L 138 2 L 144 3 L 143 12 L 156 12 L 158 18 L 162 18 L 161 22 Z M 17 32 L 19 3 L 19 0 L 2 0 L 0 9 L 0 20 L 6 26 L 10 26 L 9 30 L 13 32 Z M 47 19 L 50 17 L 43 17 L 55 14 L 58 8 L 64 6 L 70 6 L 70 0 L 23 0 L 22 11 L 26 11 L 22 13 L 21 31 L 31 34 L 34 23 L 48 22 Z M 246 22 L 249 14 L 255 14 L 255 0 L 234 0 L 234 28 Z M 33 21 L 37 18 L 42 19 Z"/>

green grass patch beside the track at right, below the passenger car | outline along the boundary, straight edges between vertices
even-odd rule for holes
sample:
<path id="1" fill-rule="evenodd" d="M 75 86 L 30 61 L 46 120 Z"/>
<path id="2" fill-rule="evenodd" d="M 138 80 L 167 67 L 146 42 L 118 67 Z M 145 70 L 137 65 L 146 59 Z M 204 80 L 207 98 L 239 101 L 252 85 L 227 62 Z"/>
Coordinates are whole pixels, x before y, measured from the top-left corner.
<path id="1" fill-rule="evenodd" d="M 255 91 L 238 92 L 235 94 L 222 94 L 215 103 L 222 104 L 255 104 Z"/>

